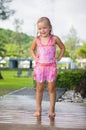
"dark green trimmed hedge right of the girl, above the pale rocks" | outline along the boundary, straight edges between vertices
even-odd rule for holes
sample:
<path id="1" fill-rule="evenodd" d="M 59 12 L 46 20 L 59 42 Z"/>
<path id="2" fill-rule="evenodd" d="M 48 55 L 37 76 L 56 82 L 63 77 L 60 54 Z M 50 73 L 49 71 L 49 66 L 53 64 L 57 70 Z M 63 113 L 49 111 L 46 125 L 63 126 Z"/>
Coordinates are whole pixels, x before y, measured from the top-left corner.
<path id="1" fill-rule="evenodd" d="M 56 87 L 75 89 L 80 84 L 84 70 L 59 70 Z"/>

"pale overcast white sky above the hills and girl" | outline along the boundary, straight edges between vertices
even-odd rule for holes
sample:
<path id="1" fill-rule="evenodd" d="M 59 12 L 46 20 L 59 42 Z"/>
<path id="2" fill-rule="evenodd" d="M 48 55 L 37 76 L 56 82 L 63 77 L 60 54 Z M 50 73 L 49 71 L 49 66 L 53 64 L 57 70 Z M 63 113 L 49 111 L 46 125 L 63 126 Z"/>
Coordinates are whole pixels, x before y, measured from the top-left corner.
<path id="1" fill-rule="evenodd" d="M 13 0 L 9 4 L 16 13 L 8 20 L 0 21 L 0 28 L 14 29 L 14 20 L 23 20 L 22 32 L 35 36 L 40 17 L 48 17 L 53 33 L 66 36 L 74 27 L 77 36 L 86 40 L 86 0 Z"/>

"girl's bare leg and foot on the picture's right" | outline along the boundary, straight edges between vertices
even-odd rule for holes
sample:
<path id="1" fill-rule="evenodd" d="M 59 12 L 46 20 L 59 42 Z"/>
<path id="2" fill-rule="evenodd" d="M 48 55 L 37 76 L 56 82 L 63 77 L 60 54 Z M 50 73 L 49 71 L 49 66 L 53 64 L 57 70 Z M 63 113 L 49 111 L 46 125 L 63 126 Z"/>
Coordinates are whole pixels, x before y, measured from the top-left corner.
<path id="1" fill-rule="evenodd" d="M 53 82 L 48 82 L 48 91 L 50 96 L 50 111 L 49 116 L 55 116 L 55 102 L 56 102 L 56 87 L 55 80 Z"/>

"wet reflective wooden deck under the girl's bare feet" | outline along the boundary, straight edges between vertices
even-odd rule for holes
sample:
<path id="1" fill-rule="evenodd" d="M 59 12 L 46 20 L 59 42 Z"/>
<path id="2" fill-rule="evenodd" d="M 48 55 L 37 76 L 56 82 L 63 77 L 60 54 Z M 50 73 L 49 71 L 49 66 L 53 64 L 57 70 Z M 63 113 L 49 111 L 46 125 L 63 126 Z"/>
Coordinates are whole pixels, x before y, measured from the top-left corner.
<path id="1" fill-rule="evenodd" d="M 35 100 L 28 96 L 0 97 L 0 130 L 86 130 L 85 103 L 56 103 L 56 117 L 48 117 L 49 101 L 42 103 L 42 116 L 36 118 Z"/>

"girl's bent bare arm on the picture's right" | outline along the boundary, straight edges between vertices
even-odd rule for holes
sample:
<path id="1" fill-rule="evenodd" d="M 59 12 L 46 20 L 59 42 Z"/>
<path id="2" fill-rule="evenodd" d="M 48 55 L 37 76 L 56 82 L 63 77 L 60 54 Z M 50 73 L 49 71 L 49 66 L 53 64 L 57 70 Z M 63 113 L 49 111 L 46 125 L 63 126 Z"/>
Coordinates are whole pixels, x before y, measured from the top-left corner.
<path id="1" fill-rule="evenodd" d="M 59 60 L 63 57 L 63 55 L 64 55 L 64 53 L 65 53 L 65 46 L 64 46 L 64 44 L 62 43 L 62 41 L 60 40 L 60 38 L 57 37 L 57 36 L 55 36 L 55 43 L 56 43 L 56 44 L 59 46 L 59 48 L 60 48 L 59 56 L 56 57 L 56 61 L 59 61 Z"/>

